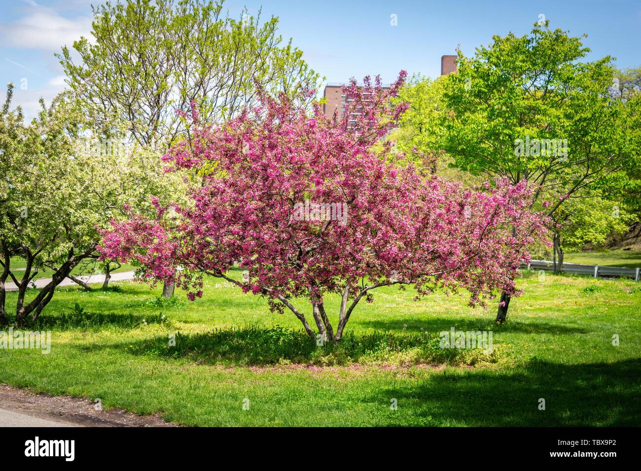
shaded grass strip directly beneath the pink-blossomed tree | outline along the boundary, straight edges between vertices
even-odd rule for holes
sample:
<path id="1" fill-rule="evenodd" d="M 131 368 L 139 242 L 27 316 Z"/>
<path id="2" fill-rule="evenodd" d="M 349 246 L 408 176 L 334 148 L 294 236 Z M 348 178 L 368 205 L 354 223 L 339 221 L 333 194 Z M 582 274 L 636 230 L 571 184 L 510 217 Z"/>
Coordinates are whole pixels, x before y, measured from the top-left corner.
<path id="1" fill-rule="evenodd" d="M 278 363 L 349 365 L 351 363 L 449 363 L 474 365 L 497 361 L 497 351 L 442 349 L 435 333 L 408 334 L 376 331 L 347 333 L 340 343 L 318 345 L 302 330 L 281 326 L 231 327 L 206 333 L 159 336 L 137 343 L 83 345 L 83 351 L 125 349 L 129 354 L 187 358 L 201 364 L 249 366 Z"/>

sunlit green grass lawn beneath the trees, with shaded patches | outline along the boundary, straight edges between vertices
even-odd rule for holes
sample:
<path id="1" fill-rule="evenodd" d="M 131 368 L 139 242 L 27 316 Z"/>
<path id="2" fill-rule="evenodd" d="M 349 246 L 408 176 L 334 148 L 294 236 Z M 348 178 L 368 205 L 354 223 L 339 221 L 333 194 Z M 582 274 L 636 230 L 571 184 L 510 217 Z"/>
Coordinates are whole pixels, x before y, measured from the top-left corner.
<path id="1" fill-rule="evenodd" d="M 495 306 L 383 288 L 334 351 L 310 347 L 288 311 L 217 279 L 196 302 L 159 301 L 160 288 L 137 283 L 62 288 L 40 323 L 51 353 L 0 350 L 0 383 L 191 426 L 641 424 L 641 283 L 524 272 L 519 285 L 502 326 Z M 71 315 L 76 302 L 89 314 Z M 337 312 L 338 299 L 326 304 Z M 452 326 L 492 329 L 494 352 L 435 351 L 434 333 Z"/>

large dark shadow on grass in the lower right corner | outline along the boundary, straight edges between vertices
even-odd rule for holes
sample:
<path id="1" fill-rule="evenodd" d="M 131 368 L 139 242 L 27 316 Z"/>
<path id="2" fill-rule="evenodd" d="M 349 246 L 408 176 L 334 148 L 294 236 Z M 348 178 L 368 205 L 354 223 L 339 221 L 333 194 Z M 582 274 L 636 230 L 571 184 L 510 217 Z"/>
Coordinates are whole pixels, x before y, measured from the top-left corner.
<path id="1" fill-rule="evenodd" d="M 519 368 L 433 374 L 420 384 L 378 390 L 375 401 L 412 407 L 381 426 L 634 426 L 641 424 L 641 361 L 562 365 L 533 359 Z M 540 399 L 545 409 L 539 409 Z"/>

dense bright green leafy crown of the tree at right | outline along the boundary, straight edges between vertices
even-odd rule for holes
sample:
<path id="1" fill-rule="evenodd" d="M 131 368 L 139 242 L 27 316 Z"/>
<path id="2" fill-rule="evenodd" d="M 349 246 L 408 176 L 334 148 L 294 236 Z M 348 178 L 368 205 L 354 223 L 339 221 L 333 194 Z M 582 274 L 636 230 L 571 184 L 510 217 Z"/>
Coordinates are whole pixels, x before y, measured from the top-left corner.
<path id="1" fill-rule="evenodd" d="M 495 36 L 472 57 L 458 51 L 458 72 L 443 78 L 447 113 L 429 144 L 472 174 L 527 180 L 537 188 L 531 206 L 549 215 L 577 192 L 624 188 L 639 168 L 640 102 L 613 96 L 611 58 L 581 62 L 588 51 L 548 22 L 522 37 Z M 510 299 L 501 301 L 497 322 Z"/>

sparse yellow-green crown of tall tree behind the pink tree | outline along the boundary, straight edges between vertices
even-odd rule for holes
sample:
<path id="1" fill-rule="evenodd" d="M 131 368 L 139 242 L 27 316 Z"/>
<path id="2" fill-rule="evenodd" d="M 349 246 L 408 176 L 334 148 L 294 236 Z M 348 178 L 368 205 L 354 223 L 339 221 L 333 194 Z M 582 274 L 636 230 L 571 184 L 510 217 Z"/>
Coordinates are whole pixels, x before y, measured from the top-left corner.
<path id="1" fill-rule="evenodd" d="M 57 54 L 69 85 L 98 122 L 115 116 L 140 144 L 167 145 L 186 129 L 176 110 L 196 103 L 206 122 L 222 122 L 267 92 L 300 96 L 318 74 L 303 53 L 267 22 L 222 2 L 126 0 L 93 7 L 91 42 Z M 74 57 L 79 56 L 79 62 Z"/>

